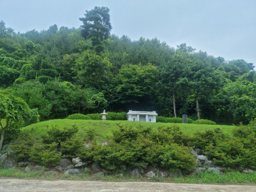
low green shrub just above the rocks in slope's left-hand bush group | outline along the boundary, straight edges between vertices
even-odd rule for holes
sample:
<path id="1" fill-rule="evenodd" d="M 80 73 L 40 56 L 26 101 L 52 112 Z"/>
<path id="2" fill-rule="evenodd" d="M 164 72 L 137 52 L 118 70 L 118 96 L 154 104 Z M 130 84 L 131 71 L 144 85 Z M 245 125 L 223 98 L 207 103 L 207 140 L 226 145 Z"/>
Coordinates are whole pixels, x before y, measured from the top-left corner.
<path id="1" fill-rule="evenodd" d="M 56 153 L 57 146 L 55 142 L 48 145 L 35 144 L 31 149 L 29 160 L 41 165 L 55 166 L 62 160 L 61 152 Z"/>

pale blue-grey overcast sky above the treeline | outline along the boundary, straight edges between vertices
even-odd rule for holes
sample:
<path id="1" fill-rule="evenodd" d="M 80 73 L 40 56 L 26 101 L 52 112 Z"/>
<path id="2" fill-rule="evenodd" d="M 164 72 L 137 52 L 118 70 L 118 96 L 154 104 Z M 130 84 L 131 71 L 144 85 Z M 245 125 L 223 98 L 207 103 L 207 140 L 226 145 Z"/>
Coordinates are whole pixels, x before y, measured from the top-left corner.
<path id="1" fill-rule="evenodd" d="M 110 9 L 111 34 L 181 43 L 256 66 L 256 0 L 0 0 L 0 20 L 15 32 L 82 25 L 95 6 Z"/>

